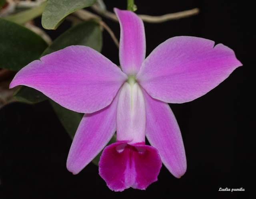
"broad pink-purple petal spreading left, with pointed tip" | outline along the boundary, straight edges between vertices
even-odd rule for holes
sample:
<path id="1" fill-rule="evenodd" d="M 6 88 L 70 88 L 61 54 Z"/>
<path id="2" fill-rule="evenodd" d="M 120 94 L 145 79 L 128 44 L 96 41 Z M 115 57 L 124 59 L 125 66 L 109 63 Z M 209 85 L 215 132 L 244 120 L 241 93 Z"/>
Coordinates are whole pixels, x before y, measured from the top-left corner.
<path id="1" fill-rule="evenodd" d="M 76 112 L 91 113 L 108 106 L 127 79 L 114 63 L 86 46 L 69 46 L 40 60 L 22 68 L 10 88 L 32 87 Z"/>

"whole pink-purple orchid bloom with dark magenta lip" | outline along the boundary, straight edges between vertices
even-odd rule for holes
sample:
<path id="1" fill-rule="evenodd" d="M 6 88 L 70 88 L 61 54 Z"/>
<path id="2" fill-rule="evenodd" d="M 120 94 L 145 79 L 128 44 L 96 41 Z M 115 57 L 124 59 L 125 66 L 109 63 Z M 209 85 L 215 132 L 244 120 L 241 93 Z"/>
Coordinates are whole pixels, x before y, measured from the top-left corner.
<path id="1" fill-rule="evenodd" d="M 122 71 L 90 47 L 76 45 L 28 64 L 10 88 L 26 85 L 85 113 L 68 154 L 69 171 L 79 173 L 116 131 L 117 142 L 100 158 L 100 176 L 114 191 L 146 189 L 157 180 L 161 161 L 175 177 L 186 171 L 182 136 L 168 103 L 201 97 L 242 64 L 225 45 L 189 36 L 164 41 L 145 59 L 142 20 L 130 11 L 114 11 Z"/>

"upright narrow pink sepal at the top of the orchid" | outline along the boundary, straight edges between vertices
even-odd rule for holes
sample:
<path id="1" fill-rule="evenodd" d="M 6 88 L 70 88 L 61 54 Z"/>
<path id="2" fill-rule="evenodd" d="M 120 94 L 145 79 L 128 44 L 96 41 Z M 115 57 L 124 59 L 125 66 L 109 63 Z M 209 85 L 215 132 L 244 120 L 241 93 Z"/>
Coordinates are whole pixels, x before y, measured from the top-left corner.
<path id="1" fill-rule="evenodd" d="M 127 75 L 136 75 L 146 55 L 144 24 L 134 13 L 114 8 L 120 23 L 119 60 L 122 71 Z"/>

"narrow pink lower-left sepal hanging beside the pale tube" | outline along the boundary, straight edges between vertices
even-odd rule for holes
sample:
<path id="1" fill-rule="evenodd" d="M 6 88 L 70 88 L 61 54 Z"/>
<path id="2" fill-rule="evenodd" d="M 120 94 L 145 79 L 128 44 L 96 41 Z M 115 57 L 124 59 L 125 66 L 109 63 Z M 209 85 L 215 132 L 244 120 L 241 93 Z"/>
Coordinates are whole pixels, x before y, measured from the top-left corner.
<path id="1" fill-rule="evenodd" d="M 116 108 L 119 93 L 110 105 L 84 114 L 67 159 L 67 169 L 77 174 L 108 144 L 116 131 Z"/>

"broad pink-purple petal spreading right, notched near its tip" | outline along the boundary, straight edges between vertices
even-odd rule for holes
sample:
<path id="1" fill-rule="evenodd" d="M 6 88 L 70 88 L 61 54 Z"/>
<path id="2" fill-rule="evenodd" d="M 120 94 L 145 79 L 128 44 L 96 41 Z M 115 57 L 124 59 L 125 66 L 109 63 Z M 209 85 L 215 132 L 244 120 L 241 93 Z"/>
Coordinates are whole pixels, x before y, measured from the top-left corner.
<path id="1" fill-rule="evenodd" d="M 192 101 L 218 86 L 241 66 L 232 49 L 199 37 L 172 37 L 145 59 L 138 83 L 168 103 Z"/>

